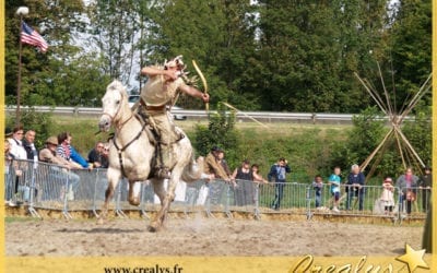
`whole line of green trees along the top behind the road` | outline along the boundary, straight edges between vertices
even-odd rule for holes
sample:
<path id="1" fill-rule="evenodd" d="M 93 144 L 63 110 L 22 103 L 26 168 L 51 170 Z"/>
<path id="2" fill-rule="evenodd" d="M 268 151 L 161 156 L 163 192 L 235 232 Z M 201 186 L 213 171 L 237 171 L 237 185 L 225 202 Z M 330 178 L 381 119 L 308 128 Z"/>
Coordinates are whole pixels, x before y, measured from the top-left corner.
<path id="1" fill-rule="evenodd" d="M 25 105 L 99 106 L 111 79 L 139 92 L 140 67 L 177 55 L 190 75 L 197 61 L 212 107 L 244 110 L 359 112 L 375 103 L 354 72 L 382 90 L 377 64 L 401 109 L 432 70 L 430 0 L 86 2 L 5 1 L 7 104 L 16 103 L 21 5 L 50 46 L 23 47 Z"/>

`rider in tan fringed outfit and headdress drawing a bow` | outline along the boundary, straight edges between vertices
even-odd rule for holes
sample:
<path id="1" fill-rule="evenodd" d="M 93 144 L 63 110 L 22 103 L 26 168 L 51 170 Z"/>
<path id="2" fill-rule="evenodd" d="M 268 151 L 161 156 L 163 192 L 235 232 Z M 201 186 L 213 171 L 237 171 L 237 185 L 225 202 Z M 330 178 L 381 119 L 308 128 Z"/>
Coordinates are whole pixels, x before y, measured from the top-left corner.
<path id="1" fill-rule="evenodd" d="M 169 178 L 169 169 L 174 162 L 172 144 L 182 139 L 184 135 L 175 130 L 169 109 L 175 104 L 180 93 L 201 98 L 204 103 L 210 96 L 200 92 L 182 80 L 185 76 L 182 56 L 165 62 L 164 68 L 145 67 L 141 74 L 147 76 L 147 82 L 141 90 L 141 99 L 132 107 L 134 111 L 147 118 L 152 128 L 158 134 L 161 158 L 155 174 L 160 178 Z"/>

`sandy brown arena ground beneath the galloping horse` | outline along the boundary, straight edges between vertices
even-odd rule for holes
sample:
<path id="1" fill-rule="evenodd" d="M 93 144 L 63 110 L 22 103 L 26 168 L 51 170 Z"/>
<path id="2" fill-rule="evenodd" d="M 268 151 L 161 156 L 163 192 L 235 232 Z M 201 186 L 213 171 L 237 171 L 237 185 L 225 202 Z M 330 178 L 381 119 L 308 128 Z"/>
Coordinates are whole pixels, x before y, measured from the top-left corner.
<path id="1" fill-rule="evenodd" d="M 423 227 L 327 221 L 169 218 L 15 221 L 5 224 L 7 256 L 393 256 L 422 245 Z"/>

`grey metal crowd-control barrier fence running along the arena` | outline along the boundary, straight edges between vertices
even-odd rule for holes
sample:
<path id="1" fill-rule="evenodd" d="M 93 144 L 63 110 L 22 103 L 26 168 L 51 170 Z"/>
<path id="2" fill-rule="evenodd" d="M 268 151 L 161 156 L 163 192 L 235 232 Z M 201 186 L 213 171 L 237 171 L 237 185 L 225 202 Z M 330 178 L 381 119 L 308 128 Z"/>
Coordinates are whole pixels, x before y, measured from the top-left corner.
<path id="1" fill-rule="evenodd" d="M 103 206 L 107 188 L 106 169 L 68 170 L 57 165 L 14 161 L 4 168 L 4 200 L 13 203 L 26 203 L 33 216 L 39 216 L 35 209 L 59 210 L 66 217 L 72 211 L 91 211 L 95 216 Z M 111 201 L 115 213 L 125 217 L 123 211 L 137 210 L 142 216 L 157 211 L 158 198 L 149 182 L 137 182 L 141 202 L 132 206 L 128 202 L 129 183 L 122 179 Z M 200 180 L 193 183 L 178 183 L 176 198 L 170 211 L 182 212 L 189 216 L 192 212 L 204 212 L 213 217 L 223 213 L 233 217 L 233 212 L 246 212 L 255 218 L 261 213 L 306 215 L 341 214 L 347 216 L 391 217 L 400 221 L 404 217 L 425 218 L 429 207 L 430 189 L 410 188 L 385 189 L 382 186 L 365 186 L 361 189 L 341 187 L 340 212 L 333 213 L 333 197 L 330 187 L 315 188 L 308 183 L 269 183 L 237 180 L 228 183 L 223 180 Z"/>

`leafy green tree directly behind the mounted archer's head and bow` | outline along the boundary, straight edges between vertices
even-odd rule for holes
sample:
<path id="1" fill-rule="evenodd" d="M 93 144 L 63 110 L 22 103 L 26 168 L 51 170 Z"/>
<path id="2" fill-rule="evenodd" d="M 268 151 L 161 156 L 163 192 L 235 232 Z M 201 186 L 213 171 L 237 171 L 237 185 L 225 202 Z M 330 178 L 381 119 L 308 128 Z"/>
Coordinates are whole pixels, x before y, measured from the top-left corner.
<path id="1" fill-rule="evenodd" d="M 246 59 L 255 50 L 250 1 L 166 1 L 153 11 L 150 35 L 144 37 L 155 45 L 147 63 L 162 63 L 182 55 L 191 73 L 191 60 L 196 60 L 208 79 L 212 105 L 222 100 L 237 107 L 255 104 L 252 91 L 241 90 Z M 186 108 L 203 107 L 192 99 L 182 98 L 178 104 Z"/>

